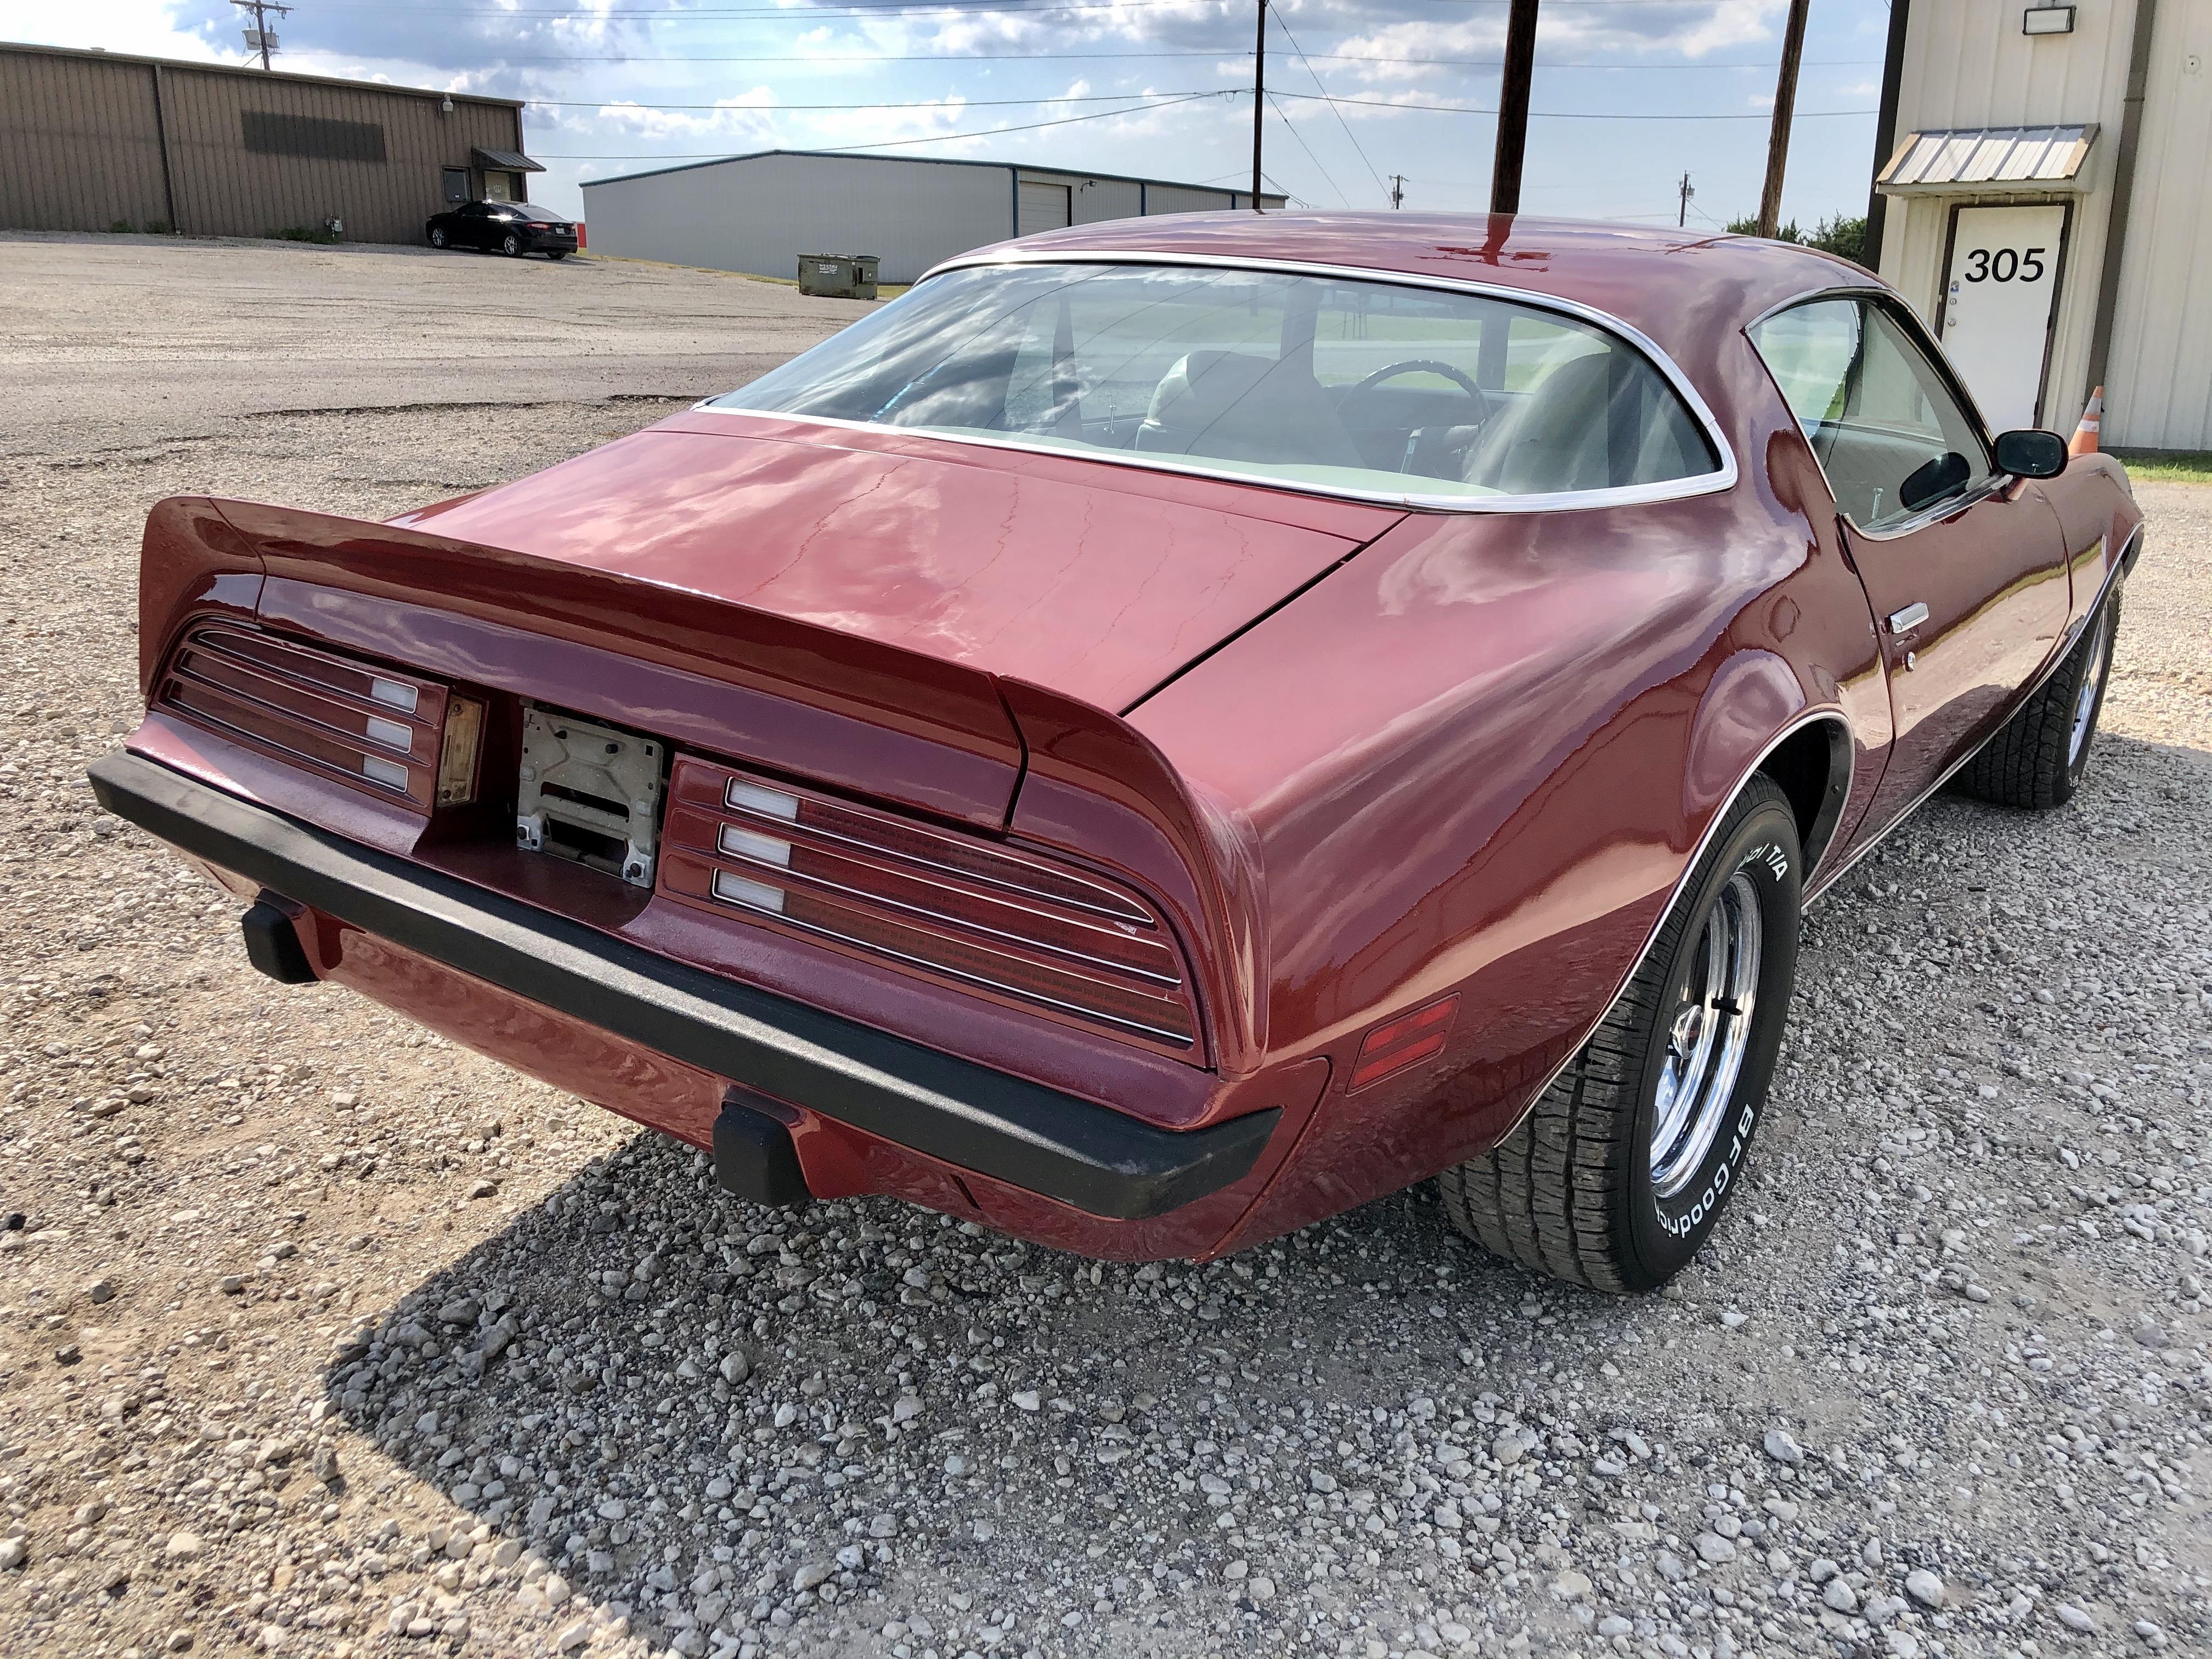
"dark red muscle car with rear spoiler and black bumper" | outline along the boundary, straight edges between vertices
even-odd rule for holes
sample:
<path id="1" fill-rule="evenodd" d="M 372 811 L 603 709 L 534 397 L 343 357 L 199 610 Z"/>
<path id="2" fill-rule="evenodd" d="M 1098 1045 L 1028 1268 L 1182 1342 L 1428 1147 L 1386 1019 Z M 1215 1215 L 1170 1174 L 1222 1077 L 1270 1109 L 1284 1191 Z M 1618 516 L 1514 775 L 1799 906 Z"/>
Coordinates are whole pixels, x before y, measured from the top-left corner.
<path id="1" fill-rule="evenodd" d="M 93 779 L 263 971 L 754 1199 L 1212 1256 L 1438 1177 L 1635 1290 L 1801 907 L 2073 794 L 2139 524 L 1803 248 L 1084 226 L 389 524 L 164 502 Z"/>

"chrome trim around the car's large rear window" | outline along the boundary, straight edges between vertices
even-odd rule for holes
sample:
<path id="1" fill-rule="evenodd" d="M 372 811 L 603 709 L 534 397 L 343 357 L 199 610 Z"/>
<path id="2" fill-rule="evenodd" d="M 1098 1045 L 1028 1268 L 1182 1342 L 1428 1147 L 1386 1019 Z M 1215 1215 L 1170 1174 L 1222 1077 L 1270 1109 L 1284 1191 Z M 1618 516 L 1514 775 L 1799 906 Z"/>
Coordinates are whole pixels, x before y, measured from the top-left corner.
<path id="1" fill-rule="evenodd" d="M 1270 473 L 1243 473 L 1223 467 L 1199 467 L 1190 462 L 1164 460 L 1150 451 L 1117 451 L 1117 449 L 1068 449 L 1062 445 L 1035 445 L 1022 442 L 1018 438 L 978 438 L 971 434 L 936 431 L 931 427 L 887 427 L 878 420 L 843 420 L 838 416 L 807 416 L 790 414 L 783 409 L 741 409 L 712 405 L 719 398 L 737 396 L 737 392 L 723 392 L 708 398 L 697 409 L 710 409 L 712 414 L 750 414 L 765 420 L 799 420 L 816 427 L 832 427 L 843 431 L 891 431 L 909 438 L 931 438 L 936 442 L 953 445 L 975 445 L 978 449 L 1013 449 L 1024 456 L 1064 456 L 1068 460 L 1093 460 L 1106 467 L 1133 467 L 1148 473 L 1183 473 L 1192 478 L 1217 478 L 1230 484 L 1252 484 L 1256 489 L 1283 489 L 1298 495 L 1325 495 L 1334 500 L 1356 500 L 1356 502 L 1378 502 L 1385 507 L 1402 507 L 1416 511 L 1438 511 L 1438 513 L 1564 513 L 1582 511 L 1590 507 L 1639 507 L 1648 502 L 1672 502 L 1692 495 L 1717 495 L 1721 491 L 1734 489 L 1736 478 L 1736 451 L 1721 431 L 1721 422 L 1714 418 L 1712 409 L 1690 385 L 1690 378 L 1657 343 L 1641 330 L 1624 323 L 1610 312 L 1601 312 L 1595 305 L 1584 305 L 1582 301 L 1562 299 L 1557 294 L 1535 294 L 1522 288 L 1504 288 L 1498 283 L 1478 283 L 1464 276 L 1431 276 L 1425 272 L 1398 272 L 1398 270 L 1369 270 L 1365 265 L 1323 265 L 1303 259 L 1237 259 L 1223 254 L 1152 254 L 1152 252 L 1121 252 L 1108 248 L 1053 248 L 1046 250 L 1013 250 L 998 254 L 960 254 L 958 259 L 947 259 L 942 265 L 927 270 L 920 281 L 914 283 L 916 292 L 931 276 L 942 276 L 953 270 L 978 270 L 989 265 L 1181 265 L 1197 270 L 1261 270 L 1279 272 L 1285 276 L 1329 276 L 1336 281 L 1356 283 L 1380 283 L 1385 288 L 1431 288 L 1447 294 L 1478 294 L 1482 299 L 1509 301 L 1513 305 L 1528 305 L 1535 310 L 1559 312 L 1562 316 L 1573 316 L 1577 323 L 1588 323 L 1599 327 L 1630 347 L 1644 354 L 1644 358 L 1659 369 L 1659 376 L 1668 387 L 1683 400 L 1692 418 L 1705 434 L 1705 442 L 1712 445 L 1712 453 L 1721 458 L 1719 469 L 1708 473 L 1694 473 L 1692 478 L 1668 478 L 1657 484 L 1619 484 L 1608 489 L 1573 489 L 1553 491 L 1546 495 L 1429 495 L 1422 491 L 1387 491 L 1387 489 L 1356 489 L 1352 484 L 1314 484 L 1303 478 L 1276 478 Z M 739 387 L 743 392 L 743 387 Z"/>

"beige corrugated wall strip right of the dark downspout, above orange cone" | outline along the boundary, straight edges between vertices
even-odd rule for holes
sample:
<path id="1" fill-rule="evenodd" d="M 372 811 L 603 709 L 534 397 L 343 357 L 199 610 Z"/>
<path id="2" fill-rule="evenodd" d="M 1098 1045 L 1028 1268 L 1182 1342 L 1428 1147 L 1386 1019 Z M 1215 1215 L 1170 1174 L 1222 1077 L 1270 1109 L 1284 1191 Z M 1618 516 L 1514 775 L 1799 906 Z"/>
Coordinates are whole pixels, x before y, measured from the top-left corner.
<path id="1" fill-rule="evenodd" d="M 2166 0 L 2150 38 L 2108 378 L 2104 442 L 2212 449 L 2212 4 L 2203 0 Z"/>

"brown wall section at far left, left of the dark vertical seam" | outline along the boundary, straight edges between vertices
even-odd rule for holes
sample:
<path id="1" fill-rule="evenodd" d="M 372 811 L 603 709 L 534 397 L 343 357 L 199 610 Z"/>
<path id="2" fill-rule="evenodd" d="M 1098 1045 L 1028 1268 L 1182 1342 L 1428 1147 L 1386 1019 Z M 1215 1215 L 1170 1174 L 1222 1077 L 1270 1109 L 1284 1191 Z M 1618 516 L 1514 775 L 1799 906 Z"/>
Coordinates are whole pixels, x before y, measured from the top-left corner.
<path id="1" fill-rule="evenodd" d="M 0 226 L 170 219 L 150 64 L 0 51 Z"/>

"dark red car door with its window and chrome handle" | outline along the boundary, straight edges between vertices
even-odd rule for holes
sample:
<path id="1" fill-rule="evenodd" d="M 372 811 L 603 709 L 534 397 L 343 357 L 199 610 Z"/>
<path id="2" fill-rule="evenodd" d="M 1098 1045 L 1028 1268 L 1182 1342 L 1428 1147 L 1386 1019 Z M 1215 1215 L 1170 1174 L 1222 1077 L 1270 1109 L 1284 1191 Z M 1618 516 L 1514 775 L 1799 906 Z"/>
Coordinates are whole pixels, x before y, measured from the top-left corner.
<path id="1" fill-rule="evenodd" d="M 1805 431 L 1874 608 L 1896 739 L 1882 827 L 1964 761 L 2066 628 L 2066 546 L 1918 325 L 1874 294 L 1823 296 L 1752 338 Z"/>

